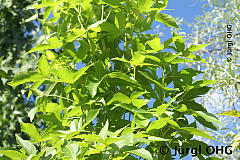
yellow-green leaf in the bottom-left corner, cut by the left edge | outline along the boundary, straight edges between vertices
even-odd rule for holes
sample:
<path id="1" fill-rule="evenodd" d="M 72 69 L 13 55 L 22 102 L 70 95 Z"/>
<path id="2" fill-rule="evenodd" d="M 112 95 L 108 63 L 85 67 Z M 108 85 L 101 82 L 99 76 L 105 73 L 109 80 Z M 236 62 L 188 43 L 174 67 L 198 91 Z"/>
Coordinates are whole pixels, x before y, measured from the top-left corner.
<path id="1" fill-rule="evenodd" d="M 0 154 L 5 155 L 14 160 L 27 159 L 27 156 L 24 153 L 9 148 L 0 148 Z"/>

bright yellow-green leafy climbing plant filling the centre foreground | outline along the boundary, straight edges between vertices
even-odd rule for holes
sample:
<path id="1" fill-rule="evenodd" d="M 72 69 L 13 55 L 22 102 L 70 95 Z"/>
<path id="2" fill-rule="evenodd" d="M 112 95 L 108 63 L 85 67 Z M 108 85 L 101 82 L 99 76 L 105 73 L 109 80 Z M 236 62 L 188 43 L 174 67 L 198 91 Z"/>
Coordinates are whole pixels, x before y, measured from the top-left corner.
<path id="1" fill-rule="evenodd" d="M 16 136 L 21 149 L 0 153 L 13 159 L 172 159 L 170 152 L 160 153 L 161 146 L 206 147 L 192 137 L 215 139 L 196 122 L 216 130 L 213 122 L 219 121 L 194 100 L 215 81 L 193 81 L 202 72 L 178 66 L 203 61 L 192 52 L 207 45 L 186 48 L 175 33 L 161 44 L 146 33 L 154 20 L 179 28 L 172 16 L 159 13 L 167 2 L 38 1 L 36 8 L 45 7 L 47 38 L 27 54 L 38 51 L 41 58 L 35 71 L 8 84 L 25 83 L 28 97 L 38 96 L 29 116 L 40 113 L 46 127 L 21 123 L 32 140 Z"/>

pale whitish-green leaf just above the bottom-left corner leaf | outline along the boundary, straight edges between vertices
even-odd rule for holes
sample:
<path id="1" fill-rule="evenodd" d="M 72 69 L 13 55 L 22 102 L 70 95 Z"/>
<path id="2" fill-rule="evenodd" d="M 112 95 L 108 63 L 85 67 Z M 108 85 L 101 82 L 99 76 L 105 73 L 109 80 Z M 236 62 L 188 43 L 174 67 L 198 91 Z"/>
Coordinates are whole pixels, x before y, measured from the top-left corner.
<path id="1" fill-rule="evenodd" d="M 28 153 L 28 155 L 36 155 L 37 149 L 36 147 L 29 141 L 23 140 L 17 134 L 15 134 L 17 142 L 23 147 L 23 149 Z"/>

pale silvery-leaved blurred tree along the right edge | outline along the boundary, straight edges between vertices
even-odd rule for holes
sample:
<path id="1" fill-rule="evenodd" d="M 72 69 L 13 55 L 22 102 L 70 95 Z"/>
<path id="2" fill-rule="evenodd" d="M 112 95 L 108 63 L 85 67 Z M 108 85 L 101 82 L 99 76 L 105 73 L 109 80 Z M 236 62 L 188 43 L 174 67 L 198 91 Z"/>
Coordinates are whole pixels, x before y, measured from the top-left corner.
<path id="1" fill-rule="evenodd" d="M 196 21 L 189 24 L 189 27 L 192 28 L 190 34 L 174 30 L 180 35 L 188 37 L 186 38 L 187 45 L 214 42 L 213 45 L 195 52 L 195 55 L 204 57 L 207 63 L 188 63 L 186 66 L 203 71 L 207 79 L 217 80 L 213 89 L 198 101 L 207 106 L 208 111 L 213 114 L 229 110 L 239 111 L 240 2 L 238 0 L 208 0 L 203 6 L 203 10 L 205 10 L 204 15 L 196 17 Z M 179 22 L 181 23 L 181 21 Z M 232 56 L 227 55 L 228 24 L 232 25 Z M 228 57 L 231 57 L 232 62 L 227 61 Z M 223 115 L 218 117 L 223 125 L 218 126 L 217 132 L 212 131 L 212 135 L 221 141 L 218 145 L 230 145 L 233 137 L 240 132 L 239 118 Z M 205 139 L 205 141 L 216 145 L 211 140 Z M 223 159 L 239 159 L 240 157 L 239 152 L 234 152 L 232 155 L 219 154 L 217 156 Z"/>

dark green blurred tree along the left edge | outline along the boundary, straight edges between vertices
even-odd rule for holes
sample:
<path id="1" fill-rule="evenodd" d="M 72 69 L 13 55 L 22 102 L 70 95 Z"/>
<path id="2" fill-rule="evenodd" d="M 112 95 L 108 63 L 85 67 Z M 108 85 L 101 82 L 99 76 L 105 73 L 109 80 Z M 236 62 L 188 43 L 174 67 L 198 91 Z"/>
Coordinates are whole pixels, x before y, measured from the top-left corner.
<path id="1" fill-rule="evenodd" d="M 26 102 L 24 85 L 11 87 L 7 81 L 16 73 L 32 69 L 35 59 L 23 54 L 38 39 L 38 13 L 29 9 L 32 0 L 0 1 L 0 146 L 15 146 L 15 133 L 20 134 L 18 121 L 29 122 L 32 102 Z M 21 134 L 27 138 L 26 134 Z"/>

